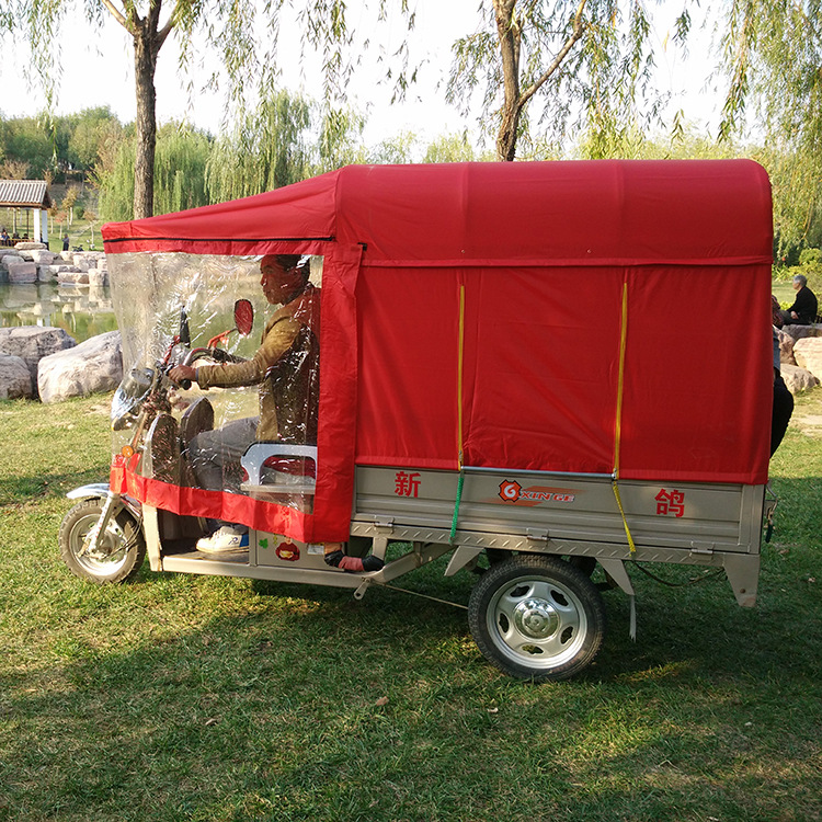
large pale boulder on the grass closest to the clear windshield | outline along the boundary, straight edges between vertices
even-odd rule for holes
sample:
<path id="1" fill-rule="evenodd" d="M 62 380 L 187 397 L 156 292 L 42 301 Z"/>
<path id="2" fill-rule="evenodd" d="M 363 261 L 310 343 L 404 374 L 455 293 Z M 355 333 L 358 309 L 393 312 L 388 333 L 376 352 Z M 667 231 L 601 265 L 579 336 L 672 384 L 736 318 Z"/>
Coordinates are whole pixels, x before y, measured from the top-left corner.
<path id="1" fill-rule="evenodd" d="M 43 402 L 60 402 L 69 397 L 113 391 L 122 379 L 119 331 L 109 331 L 41 359 L 37 389 Z"/>

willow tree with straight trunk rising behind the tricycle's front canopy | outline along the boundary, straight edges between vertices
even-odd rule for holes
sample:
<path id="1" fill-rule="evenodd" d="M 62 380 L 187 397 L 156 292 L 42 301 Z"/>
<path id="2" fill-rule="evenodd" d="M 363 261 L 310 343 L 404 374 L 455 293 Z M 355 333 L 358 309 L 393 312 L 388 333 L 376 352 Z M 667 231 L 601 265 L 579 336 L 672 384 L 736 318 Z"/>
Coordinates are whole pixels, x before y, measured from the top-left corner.
<path id="1" fill-rule="evenodd" d="M 361 4 L 357 12 L 363 5 L 368 3 Z M 389 5 L 398 10 L 409 26 L 413 25 L 408 0 L 372 0 L 370 3 L 379 19 Z M 79 13 L 84 13 L 89 24 L 96 27 L 109 19 L 114 20 L 133 45 L 137 100 L 135 217 L 148 217 L 153 213 L 155 72 L 160 50 L 170 37 L 179 41 L 180 70 L 189 78 L 195 53 L 206 48 L 219 56 L 222 71 L 213 75 L 209 83 L 216 83 L 220 73 L 225 76 L 229 99 L 237 111 L 243 110 L 249 92 L 266 92 L 274 87 L 284 13 L 296 16 L 304 49 L 320 55 L 327 99 L 344 96 L 354 60 L 366 45 L 354 42 L 354 33 L 346 22 L 345 0 L 18 0 L 13 14 L 0 15 L 0 32 L 22 32 L 27 37 L 49 102 L 54 99 L 55 78 L 59 76 L 60 23 L 68 15 Z M 404 78 L 402 64 L 395 78 Z"/>

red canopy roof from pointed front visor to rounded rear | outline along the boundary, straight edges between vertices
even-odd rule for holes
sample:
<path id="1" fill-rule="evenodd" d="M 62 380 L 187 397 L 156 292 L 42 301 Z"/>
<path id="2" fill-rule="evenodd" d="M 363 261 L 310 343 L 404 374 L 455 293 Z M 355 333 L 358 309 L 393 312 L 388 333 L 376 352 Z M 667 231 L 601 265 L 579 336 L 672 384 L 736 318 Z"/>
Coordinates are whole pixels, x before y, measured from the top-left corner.
<path id="1" fill-rule="evenodd" d="M 770 186 L 747 160 L 349 165 L 230 203 L 103 227 L 109 253 L 365 243 L 367 260 L 770 259 Z"/>

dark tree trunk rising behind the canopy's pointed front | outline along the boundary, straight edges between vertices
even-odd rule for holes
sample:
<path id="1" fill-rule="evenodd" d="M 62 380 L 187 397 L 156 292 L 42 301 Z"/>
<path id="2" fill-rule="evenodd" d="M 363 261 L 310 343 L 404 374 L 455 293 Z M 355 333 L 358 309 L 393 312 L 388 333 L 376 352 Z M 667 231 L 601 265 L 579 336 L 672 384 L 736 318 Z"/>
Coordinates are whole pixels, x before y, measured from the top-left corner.
<path id="1" fill-rule="evenodd" d="M 157 90 L 155 70 L 161 41 L 157 34 L 160 2 L 145 20 L 135 21 L 134 76 L 137 89 L 136 150 L 134 158 L 134 217 L 155 213 L 155 149 L 157 146 Z"/>

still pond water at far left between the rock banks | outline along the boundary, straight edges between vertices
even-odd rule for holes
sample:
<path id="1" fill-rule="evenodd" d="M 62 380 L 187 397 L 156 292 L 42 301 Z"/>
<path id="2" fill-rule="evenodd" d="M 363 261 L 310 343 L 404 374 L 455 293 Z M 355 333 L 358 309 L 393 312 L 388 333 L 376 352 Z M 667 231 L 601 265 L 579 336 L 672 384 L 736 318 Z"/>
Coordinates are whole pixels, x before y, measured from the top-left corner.
<path id="1" fill-rule="evenodd" d="M 117 320 L 107 286 L 0 283 L 0 328 L 14 326 L 61 328 L 81 343 L 114 331 Z"/>

